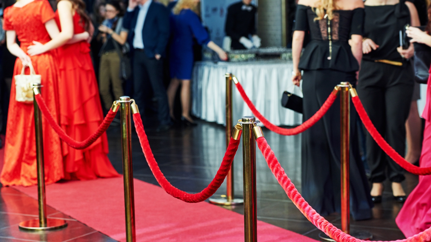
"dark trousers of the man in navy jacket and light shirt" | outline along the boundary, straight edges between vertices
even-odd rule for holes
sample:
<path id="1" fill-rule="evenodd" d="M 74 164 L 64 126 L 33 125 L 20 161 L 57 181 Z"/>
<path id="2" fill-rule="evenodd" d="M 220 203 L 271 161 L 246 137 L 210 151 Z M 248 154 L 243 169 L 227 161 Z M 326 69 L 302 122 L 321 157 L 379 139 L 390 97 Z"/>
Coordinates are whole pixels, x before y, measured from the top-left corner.
<path id="1" fill-rule="evenodd" d="M 148 85 L 150 83 L 150 85 Z M 133 56 L 134 99 L 140 110 L 145 110 L 146 88 L 152 88 L 157 99 L 160 124 L 170 124 L 168 96 L 163 84 L 163 60 L 149 58 L 145 51 L 135 50 Z"/>

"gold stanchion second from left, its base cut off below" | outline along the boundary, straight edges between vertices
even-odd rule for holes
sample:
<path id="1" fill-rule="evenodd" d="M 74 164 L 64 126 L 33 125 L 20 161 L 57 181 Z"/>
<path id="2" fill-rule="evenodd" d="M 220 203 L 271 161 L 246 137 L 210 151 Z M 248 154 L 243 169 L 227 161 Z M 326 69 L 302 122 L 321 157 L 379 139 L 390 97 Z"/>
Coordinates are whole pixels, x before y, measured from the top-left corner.
<path id="1" fill-rule="evenodd" d="M 136 242 L 135 214 L 134 214 L 134 190 L 133 190 L 133 165 L 132 165 L 132 141 L 130 109 L 132 100 L 128 96 L 120 97 L 121 117 L 121 149 L 123 158 L 124 178 L 124 205 L 126 215 L 126 241 Z"/>

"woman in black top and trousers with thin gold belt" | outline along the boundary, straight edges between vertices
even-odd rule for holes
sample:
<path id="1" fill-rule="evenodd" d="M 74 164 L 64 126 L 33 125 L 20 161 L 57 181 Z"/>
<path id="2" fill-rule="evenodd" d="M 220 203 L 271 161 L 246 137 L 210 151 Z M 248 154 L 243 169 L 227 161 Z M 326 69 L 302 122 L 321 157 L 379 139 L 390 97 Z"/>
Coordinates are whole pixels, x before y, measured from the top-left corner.
<path id="1" fill-rule="evenodd" d="M 400 47 L 400 31 L 419 25 L 413 3 L 405 0 L 366 0 L 363 57 L 358 95 L 378 132 L 400 155 L 406 146 L 406 119 L 413 94 L 414 73 L 409 58 L 413 45 Z M 371 195 L 381 202 L 383 182 L 388 177 L 397 202 L 406 200 L 401 186 L 404 169 L 389 158 L 367 132 L 367 161 L 373 183 Z"/>

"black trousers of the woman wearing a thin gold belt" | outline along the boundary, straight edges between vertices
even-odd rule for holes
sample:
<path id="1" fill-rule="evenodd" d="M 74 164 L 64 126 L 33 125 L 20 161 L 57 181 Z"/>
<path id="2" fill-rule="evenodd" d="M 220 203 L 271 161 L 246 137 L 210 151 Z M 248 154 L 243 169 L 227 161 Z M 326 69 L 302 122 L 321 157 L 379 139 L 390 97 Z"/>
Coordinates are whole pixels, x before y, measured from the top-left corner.
<path id="1" fill-rule="evenodd" d="M 409 63 L 395 66 L 362 61 L 359 73 L 357 91 L 365 110 L 378 132 L 401 156 L 406 149 L 405 124 L 412 102 L 413 76 Z M 387 177 L 391 182 L 405 179 L 404 169 L 380 149 L 368 132 L 366 143 L 371 182 L 381 183 Z"/>

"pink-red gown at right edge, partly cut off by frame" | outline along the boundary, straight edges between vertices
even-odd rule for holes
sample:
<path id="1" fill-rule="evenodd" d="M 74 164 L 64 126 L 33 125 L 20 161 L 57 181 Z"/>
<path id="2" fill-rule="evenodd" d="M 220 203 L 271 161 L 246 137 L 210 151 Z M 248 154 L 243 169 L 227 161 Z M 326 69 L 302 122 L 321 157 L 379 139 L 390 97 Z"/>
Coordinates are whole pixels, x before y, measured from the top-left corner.
<path id="1" fill-rule="evenodd" d="M 422 118 L 425 118 L 425 130 L 419 164 L 421 167 L 431 167 L 431 75 L 428 79 L 427 99 Z M 431 226 L 431 175 L 419 176 L 418 186 L 410 193 L 395 222 L 406 237 L 418 234 Z"/>

